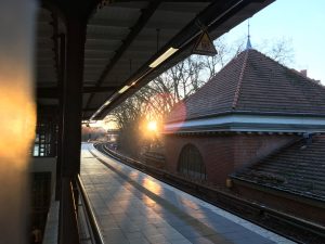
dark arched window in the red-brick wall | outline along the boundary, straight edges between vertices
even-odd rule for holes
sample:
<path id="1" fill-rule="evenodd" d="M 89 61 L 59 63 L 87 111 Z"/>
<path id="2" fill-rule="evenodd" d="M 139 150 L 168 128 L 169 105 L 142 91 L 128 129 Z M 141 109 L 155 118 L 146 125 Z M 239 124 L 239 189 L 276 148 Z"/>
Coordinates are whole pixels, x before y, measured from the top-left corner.
<path id="1" fill-rule="evenodd" d="M 178 171 L 191 179 L 206 180 L 207 172 L 199 151 L 192 144 L 182 149 Z"/>

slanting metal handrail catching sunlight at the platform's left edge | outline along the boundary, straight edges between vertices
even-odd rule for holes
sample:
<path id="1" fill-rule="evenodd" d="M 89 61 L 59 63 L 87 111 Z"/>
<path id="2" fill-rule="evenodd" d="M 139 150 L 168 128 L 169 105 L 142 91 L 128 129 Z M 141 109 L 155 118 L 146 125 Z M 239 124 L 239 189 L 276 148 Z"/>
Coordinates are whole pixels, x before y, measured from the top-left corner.
<path id="1" fill-rule="evenodd" d="M 87 213 L 87 217 L 90 221 L 91 232 L 92 232 L 94 242 L 96 244 L 104 244 L 103 235 L 100 231 L 99 223 L 96 221 L 95 215 L 94 215 L 94 213 L 92 210 L 92 207 L 90 205 L 90 201 L 89 201 L 88 195 L 86 193 L 86 190 L 84 190 L 83 183 L 81 181 L 80 175 L 77 176 L 76 181 L 77 181 L 79 192 L 81 193 L 82 201 L 84 203 L 86 213 Z"/>

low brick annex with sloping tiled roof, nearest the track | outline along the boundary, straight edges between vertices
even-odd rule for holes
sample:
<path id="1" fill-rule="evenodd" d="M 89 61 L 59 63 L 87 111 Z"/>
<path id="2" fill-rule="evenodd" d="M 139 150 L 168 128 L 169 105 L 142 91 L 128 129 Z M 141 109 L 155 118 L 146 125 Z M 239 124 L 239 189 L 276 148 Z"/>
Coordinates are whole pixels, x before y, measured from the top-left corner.
<path id="1" fill-rule="evenodd" d="M 325 134 L 297 140 L 231 178 L 237 194 L 325 224 Z"/>

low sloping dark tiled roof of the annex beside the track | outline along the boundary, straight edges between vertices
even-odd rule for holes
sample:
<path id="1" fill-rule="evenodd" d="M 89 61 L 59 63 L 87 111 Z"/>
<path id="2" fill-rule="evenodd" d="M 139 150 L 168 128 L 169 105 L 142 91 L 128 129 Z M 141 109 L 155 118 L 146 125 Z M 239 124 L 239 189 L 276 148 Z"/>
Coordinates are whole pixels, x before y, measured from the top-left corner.
<path id="1" fill-rule="evenodd" d="M 325 201 L 325 134 L 280 151 L 232 177 Z"/>

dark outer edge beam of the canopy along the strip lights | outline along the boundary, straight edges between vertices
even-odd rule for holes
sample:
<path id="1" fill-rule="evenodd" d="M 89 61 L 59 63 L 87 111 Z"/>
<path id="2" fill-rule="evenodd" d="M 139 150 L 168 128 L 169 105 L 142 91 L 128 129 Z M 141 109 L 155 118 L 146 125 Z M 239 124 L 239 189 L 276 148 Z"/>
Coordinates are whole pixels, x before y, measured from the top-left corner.
<path id="1" fill-rule="evenodd" d="M 208 31 L 213 31 L 219 26 L 231 20 L 233 16 L 239 13 L 239 11 L 247 8 L 250 3 L 264 3 L 263 8 L 274 0 L 214 0 L 211 4 L 203 10 L 193 21 L 191 21 L 182 30 L 180 30 L 170 41 L 168 41 L 164 48 L 159 50 L 155 55 L 152 56 L 145 64 L 143 64 L 125 84 L 130 84 L 138 77 L 142 77 L 140 81 L 136 82 L 134 90 L 129 89 L 127 92 L 119 94 L 112 103 L 99 113 L 94 119 L 102 119 L 108 111 L 112 111 L 128 97 L 131 97 L 136 90 L 147 82 L 147 77 L 153 73 L 160 74 L 172 65 L 172 61 L 177 60 L 178 56 L 182 55 L 182 59 L 186 59 L 191 55 L 190 47 L 196 41 L 203 29 L 199 27 L 207 28 Z M 253 12 L 255 13 L 255 12 Z M 250 13 L 253 14 L 253 13 Z M 247 14 L 248 15 L 248 14 Z M 198 25 L 199 23 L 199 25 Z M 225 30 L 224 30 L 225 31 Z M 160 65 L 161 67 L 150 69 L 148 65 L 160 56 L 168 48 L 176 47 L 180 50 L 178 53 L 165 61 L 167 65 Z"/>

